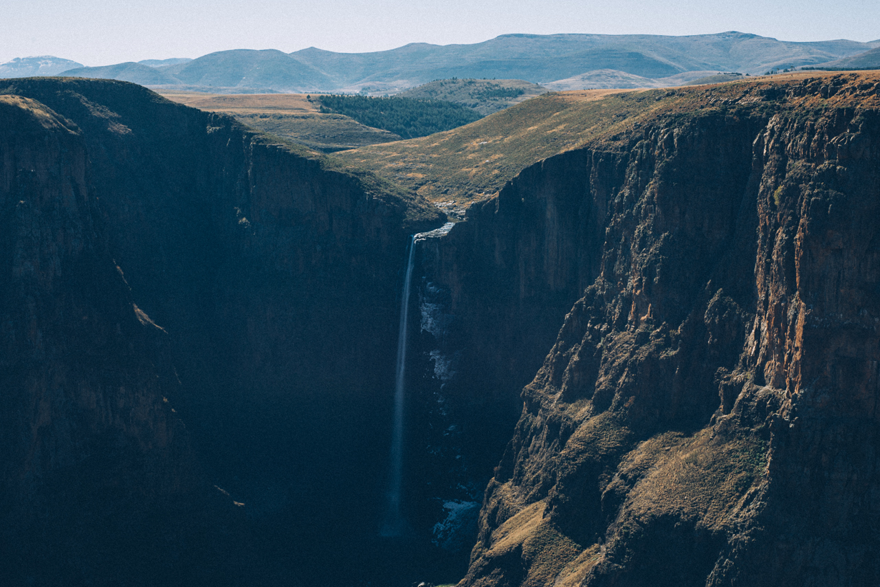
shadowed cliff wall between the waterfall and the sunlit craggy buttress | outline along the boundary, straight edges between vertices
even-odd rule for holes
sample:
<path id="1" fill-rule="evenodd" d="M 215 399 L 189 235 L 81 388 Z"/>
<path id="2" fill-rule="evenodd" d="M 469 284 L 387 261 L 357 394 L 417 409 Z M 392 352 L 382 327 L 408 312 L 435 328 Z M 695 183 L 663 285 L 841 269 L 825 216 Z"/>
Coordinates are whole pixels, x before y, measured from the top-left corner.
<path id="1" fill-rule="evenodd" d="M 517 422 L 518 391 L 589 282 L 595 215 L 559 197 L 588 182 L 583 152 L 548 159 L 466 222 L 416 239 L 410 495 L 436 503 L 414 514 L 449 547 L 471 546 L 468 525 Z"/>

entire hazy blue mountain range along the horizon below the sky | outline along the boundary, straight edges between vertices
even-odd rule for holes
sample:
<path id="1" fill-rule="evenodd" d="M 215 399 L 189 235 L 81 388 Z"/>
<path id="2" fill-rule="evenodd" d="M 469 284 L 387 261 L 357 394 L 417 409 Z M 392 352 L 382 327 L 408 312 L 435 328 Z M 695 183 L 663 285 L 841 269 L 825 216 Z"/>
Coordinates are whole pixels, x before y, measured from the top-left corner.
<path id="1" fill-rule="evenodd" d="M 63 75 L 110 77 L 136 84 L 207 92 L 391 93 L 451 78 L 515 78 L 548 87 L 576 89 L 576 85 L 619 87 L 615 84 L 631 85 L 640 79 L 657 80 L 649 85 L 673 84 L 672 80 L 689 81 L 722 71 L 755 75 L 767 70 L 819 67 L 847 59 L 876 63 L 874 67 L 880 67 L 876 48 L 880 48 L 880 40 L 790 42 L 737 32 L 681 37 L 505 34 L 470 45 L 411 43 L 373 53 L 334 53 L 307 48 L 287 54 L 275 49 L 234 49 L 193 60 L 71 66 Z M 54 73 L 57 72 L 26 75 Z M 0 69 L 0 75 L 12 74 Z M 659 81 L 661 79 L 663 81 Z"/>

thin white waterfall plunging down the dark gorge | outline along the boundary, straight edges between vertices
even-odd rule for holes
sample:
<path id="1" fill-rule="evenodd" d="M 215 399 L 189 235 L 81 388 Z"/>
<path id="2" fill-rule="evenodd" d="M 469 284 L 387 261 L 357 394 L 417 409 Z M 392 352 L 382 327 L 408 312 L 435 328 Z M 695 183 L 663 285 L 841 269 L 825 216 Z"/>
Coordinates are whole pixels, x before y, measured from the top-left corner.
<path id="1" fill-rule="evenodd" d="M 401 485 L 403 484 L 403 405 L 405 397 L 404 374 L 407 368 L 407 320 L 409 318 L 409 289 L 413 281 L 415 258 L 415 235 L 409 241 L 407 275 L 403 280 L 400 297 L 400 330 L 397 335 L 397 367 L 394 375 L 394 427 L 391 441 L 391 475 L 388 482 L 385 520 L 379 534 L 386 537 L 400 536 L 406 526 L 400 511 Z"/>

